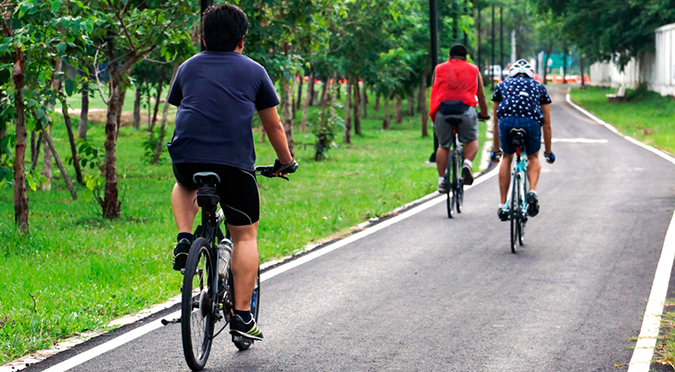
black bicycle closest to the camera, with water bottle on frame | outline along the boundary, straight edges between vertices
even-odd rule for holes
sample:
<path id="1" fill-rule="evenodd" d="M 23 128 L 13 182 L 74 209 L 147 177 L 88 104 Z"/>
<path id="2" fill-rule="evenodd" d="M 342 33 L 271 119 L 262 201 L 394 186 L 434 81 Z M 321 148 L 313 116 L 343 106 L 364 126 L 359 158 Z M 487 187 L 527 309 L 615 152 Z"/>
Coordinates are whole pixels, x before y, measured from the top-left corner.
<path id="1" fill-rule="evenodd" d="M 281 177 L 272 174 L 272 168 L 257 167 L 256 173 L 270 178 Z M 218 184 L 223 180 L 213 172 L 196 173 L 193 180 L 199 187 L 197 204 L 202 210 L 202 223 L 194 233 L 196 239 L 183 271 L 181 317 L 174 322 L 181 323 L 185 361 L 190 369 L 200 371 L 209 358 L 213 339 L 232 319 L 234 283 L 230 269 L 230 234 L 226 226 L 225 233 L 221 230 L 225 216 L 222 210 L 217 210 L 220 202 Z M 260 272 L 251 297 L 251 314 L 256 322 L 259 309 Z M 222 327 L 216 331 L 221 322 Z M 232 335 L 232 342 L 239 350 L 246 350 L 253 344 L 252 339 L 239 335 Z"/>

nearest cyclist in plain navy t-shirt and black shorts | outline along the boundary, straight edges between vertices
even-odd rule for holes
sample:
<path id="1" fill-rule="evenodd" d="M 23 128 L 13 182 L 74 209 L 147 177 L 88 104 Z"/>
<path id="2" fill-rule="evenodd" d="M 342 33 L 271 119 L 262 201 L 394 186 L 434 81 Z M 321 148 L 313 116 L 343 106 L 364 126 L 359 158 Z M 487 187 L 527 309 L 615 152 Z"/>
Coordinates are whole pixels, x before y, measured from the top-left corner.
<path id="1" fill-rule="evenodd" d="M 194 240 L 192 224 L 199 207 L 192 175 L 215 172 L 223 181 L 220 204 L 233 240 L 235 302 L 230 333 L 262 340 L 250 313 L 260 215 L 251 128 L 256 110 L 279 158 L 274 173 L 292 173 L 297 163 L 277 114 L 279 99 L 272 81 L 262 66 L 241 54 L 247 32 L 248 18 L 234 5 L 212 6 L 204 13 L 206 51 L 180 66 L 169 93 L 168 102 L 178 106 L 178 112 L 167 147 L 176 177 L 171 195 L 178 227 L 173 268 L 185 267 Z"/>

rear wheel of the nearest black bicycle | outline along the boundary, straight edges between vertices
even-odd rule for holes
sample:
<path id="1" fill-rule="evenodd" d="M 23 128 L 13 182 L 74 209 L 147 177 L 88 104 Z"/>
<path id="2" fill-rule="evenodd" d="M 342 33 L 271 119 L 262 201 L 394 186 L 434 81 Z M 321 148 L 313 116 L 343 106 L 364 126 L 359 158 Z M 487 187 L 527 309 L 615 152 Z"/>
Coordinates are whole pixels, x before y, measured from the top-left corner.
<path id="1" fill-rule="evenodd" d="M 181 298 L 181 334 L 185 361 L 193 371 L 201 371 L 209 358 L 213 337 L 213 270 L 211 245 L 204 238 L 190 248 Z"/>

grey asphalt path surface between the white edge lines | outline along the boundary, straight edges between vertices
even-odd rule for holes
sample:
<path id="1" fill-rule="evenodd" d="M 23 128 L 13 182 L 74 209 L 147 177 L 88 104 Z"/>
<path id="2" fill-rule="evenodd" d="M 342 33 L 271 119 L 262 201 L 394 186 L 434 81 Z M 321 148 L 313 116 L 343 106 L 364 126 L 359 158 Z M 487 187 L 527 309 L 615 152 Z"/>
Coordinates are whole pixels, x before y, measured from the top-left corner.
<path id="1" fill-rule="evenodd" d="M 263 283 L 265 341 L 216 339 L 210 371 L 621 371 L 675 207 L 675 168 L 554 91 L 555 165 L 525 247 L 496 178 Z M 186 371 L 177 325 L 73 371 Z"/>

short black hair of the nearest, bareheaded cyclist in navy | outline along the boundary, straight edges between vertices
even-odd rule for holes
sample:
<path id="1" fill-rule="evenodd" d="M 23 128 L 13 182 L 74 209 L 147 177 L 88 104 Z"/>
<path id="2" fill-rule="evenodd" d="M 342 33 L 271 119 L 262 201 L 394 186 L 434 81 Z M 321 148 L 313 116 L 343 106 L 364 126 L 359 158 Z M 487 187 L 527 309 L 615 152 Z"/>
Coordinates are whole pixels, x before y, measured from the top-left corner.
<path id="1" fill-rule="evenodd" d="M 236 5 L 212 5 L 204 12 L 202 33 L 206 50 L 231 52 L 247 32 L 248 17 Z"/>

